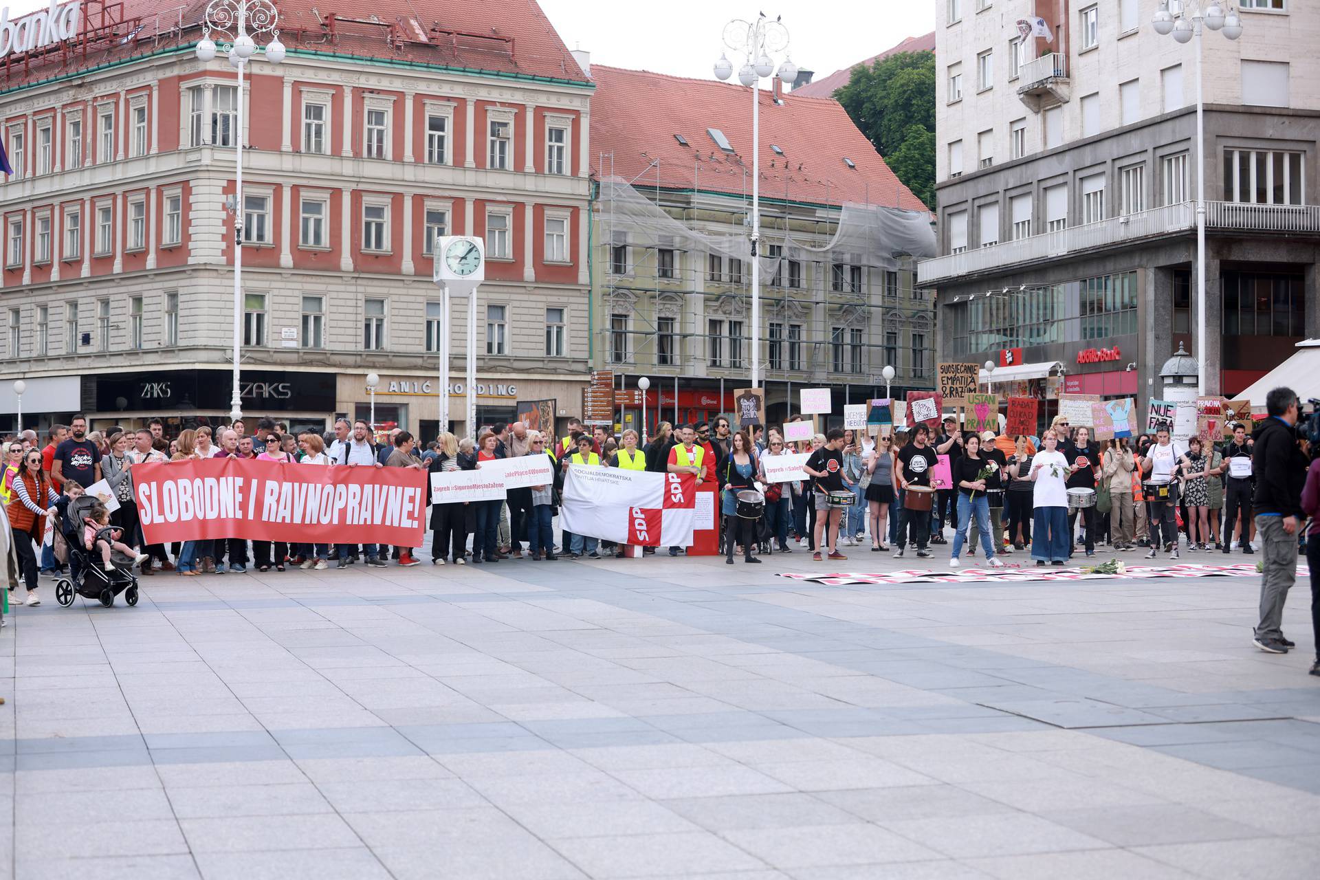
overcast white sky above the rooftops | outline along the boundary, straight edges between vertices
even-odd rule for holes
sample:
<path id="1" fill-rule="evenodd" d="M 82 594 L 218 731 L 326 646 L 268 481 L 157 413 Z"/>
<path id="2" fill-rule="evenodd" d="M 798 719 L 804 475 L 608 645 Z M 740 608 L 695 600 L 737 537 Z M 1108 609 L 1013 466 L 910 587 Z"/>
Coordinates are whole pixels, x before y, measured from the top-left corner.
<path id="1" fill-rule="evenodd" d="M 326 8 L 334 8 L 329 0 Z M 478 0 L 455 0 L 475 3 Z M 541 0 L 569 49 L 615 67 L 711 78 L 727 21 L 758 12 L 783 16 L 799 67 L 817 78 L 855 65 L 904 37 L 935 30 L 936 0 L 799 0 L 775 5 L 760 0 Z M 9 18 L 50 5 L 49 0 L 0 0 Z M 368 4 L 370 5 L 370 4 Z M 498 4 L 492 4 L 498 5 Z M 345 4 L 345 12 L 352 4 Z M 444 21 L 441 8 L 440 20 Z M 734 69 L 737 70 L 737 65 Z"/>

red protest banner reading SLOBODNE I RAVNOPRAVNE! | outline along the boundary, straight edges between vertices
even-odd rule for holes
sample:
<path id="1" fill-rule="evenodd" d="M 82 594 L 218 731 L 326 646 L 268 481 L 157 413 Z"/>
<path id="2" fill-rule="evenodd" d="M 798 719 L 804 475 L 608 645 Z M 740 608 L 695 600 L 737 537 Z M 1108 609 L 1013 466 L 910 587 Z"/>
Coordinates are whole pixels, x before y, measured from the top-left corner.
<path id="1" fill-rule="evenodd" d="M 211 458 L 135 464 L 147 544 L 247 538 L 421 546 L 426 471 Z"/>

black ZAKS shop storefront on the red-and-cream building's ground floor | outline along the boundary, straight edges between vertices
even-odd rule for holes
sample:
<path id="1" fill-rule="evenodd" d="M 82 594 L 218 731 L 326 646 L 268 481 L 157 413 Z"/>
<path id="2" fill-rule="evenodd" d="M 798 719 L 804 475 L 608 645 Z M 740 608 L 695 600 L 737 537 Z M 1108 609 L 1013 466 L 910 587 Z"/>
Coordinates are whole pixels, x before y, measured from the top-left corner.
<path id="1" fill-rule="evenodd" d="M 323 431 L 335 412 L 335 373 L 252 369 L 239 377 L 248 427 L 269 416 L 289 430 Z M 91 427 L 143 427 L 165 421 L 166 434 L 227 425 L 234 373 L 227 369 L 153 369 L 86 377 L 82 397 Z"/>

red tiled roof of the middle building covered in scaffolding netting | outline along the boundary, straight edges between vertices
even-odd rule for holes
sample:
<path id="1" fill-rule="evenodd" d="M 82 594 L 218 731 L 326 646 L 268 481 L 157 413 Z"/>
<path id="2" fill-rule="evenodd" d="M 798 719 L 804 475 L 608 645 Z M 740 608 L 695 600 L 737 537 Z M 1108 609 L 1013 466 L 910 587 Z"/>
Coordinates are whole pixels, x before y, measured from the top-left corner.
<path id="1" fill-rule="evenodd" d="M 591 65 L 591 78 L 597 86 L 591 96 L 595 174 L 622 177 L 642 189 L 659 182 L 667 189 L 751 194 L 747 88 L 603 65 Z M 722 150 L 708 128 L 722 131 L 734 152 Z M 775 153 L 772 144 L 784 154 Z M 845 157 L 857 168 L 849 168 Z M 771 92 L 762 90 L 760 173 L 762 198 L 927 210 L 836 100 L 788 92 L 783 104 L 775 104 Z"/>

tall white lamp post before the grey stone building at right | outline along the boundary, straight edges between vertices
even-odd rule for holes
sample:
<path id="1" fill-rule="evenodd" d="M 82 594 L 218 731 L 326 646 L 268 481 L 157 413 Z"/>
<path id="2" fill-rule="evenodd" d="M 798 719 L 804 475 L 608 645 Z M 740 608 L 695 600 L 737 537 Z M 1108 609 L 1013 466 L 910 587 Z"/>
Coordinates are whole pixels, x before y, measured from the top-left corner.
<path id="1" fill-rule="evenodd" d="M 1205 393 L 1205 102 L 1201 99 L 1201 33 L 1204 28 L 1220 30 L 1229 40 L 1242 36 L 1237 9 L 1224 11 L 1220 0 L 1210 0 L 1204 12 L 1199 0 L 1162 0 L 1151 26 L 1162 37 L 1179 42 L 1196 37 L 1196 393 Z"/>

